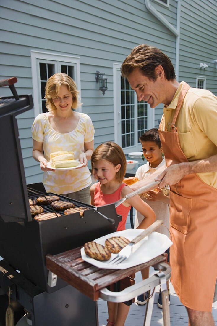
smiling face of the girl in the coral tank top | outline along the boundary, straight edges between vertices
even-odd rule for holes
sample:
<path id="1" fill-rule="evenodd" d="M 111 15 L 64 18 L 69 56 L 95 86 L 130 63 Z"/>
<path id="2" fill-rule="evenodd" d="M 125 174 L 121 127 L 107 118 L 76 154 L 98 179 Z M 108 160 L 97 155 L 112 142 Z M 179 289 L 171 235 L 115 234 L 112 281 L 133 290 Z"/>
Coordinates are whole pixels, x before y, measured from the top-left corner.
<path id="1" fill-rule="evenodd" d="M 93 163 L 93 175 L 104 185 L 116 179 L 116 173 L 120 170 L 120 167 L 120 164 L 115 166 L 103 159 Z"/>

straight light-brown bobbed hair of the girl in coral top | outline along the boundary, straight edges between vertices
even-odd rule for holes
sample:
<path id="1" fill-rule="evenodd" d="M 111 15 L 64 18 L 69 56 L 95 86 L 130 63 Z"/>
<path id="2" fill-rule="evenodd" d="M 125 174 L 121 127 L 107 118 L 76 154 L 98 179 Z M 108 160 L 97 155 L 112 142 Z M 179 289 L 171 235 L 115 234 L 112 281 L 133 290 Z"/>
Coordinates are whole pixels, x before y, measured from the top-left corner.
<path id="1" fill-rule="evenodd" d="M 91 168 L 93 174 L 93 163 L 101 160 L 106 160 L 114 166 L 120 164 L 120 170 L 117 171 L 116 177 L 119 182 L 123 181 L 126 173 L 127 161 L 122 148 L 113 141 L 107 141 L 99 145 L 91 156 Z"/>

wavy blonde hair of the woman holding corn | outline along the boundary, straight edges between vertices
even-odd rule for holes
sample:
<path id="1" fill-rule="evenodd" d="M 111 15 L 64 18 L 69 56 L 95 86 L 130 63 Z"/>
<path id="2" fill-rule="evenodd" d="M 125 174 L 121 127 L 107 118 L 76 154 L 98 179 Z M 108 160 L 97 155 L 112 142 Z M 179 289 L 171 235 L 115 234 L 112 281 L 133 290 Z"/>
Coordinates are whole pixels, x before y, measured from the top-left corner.
<path id="1" fill-rule="evenodd" d="M 72 93 L 72 109 L 76 109 L 81 105 L 79 101 L 79 91 L 77 90 L 74 80 L 63 72 L 60 72 L 51 76 L 46 82 L 44 98 L 47 99 L 46 107 L 48 111 L 54 111 L 57 109 L 53 103 L 53 98 L 58 95 L 62 85 L 67 86 L 69 92 Z"/>

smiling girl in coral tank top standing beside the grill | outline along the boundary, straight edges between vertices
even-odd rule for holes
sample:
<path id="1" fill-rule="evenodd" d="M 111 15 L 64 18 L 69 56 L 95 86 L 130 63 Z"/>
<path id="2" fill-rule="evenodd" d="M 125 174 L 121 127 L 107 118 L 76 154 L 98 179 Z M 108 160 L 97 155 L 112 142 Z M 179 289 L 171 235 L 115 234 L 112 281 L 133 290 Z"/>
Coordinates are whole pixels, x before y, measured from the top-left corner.
<path id="1" fill-rule="evenodd" d="M 130 187 L 122 182 L 126 173 L 126 157 L 116 143 L 110 141 L 99 145 L 91 156 L 91 167 L 94 177 L 99 181 L 90 187 L 91 205 L 111 204 L 132 192 Z M 117 214 L 122 215 L 117 231 L 125 230 L 131 205 L 145 216 L 138 229 L 146 229 L 155 221 L 156 215 L 153 209 L 136 195 L 116 208 Z M 124 326 L 129 305 L 113 302 L 107 302 L 107 304 L 107 326 Z"/>

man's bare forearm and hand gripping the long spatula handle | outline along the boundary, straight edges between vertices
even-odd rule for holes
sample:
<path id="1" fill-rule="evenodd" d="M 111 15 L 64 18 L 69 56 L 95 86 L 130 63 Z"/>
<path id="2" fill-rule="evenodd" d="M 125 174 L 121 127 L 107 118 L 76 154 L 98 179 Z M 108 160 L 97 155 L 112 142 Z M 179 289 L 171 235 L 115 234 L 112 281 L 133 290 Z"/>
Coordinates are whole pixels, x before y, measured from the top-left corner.
<path id="1" fill-rule="evenodd" d="M 155 180 L 163 179 L 158 185 L 162 188 L 165 185 L 175 185 L 187 174 L 203 172 L 217 172 L 217 155 L 198 161 L 170 165 Z"/>

